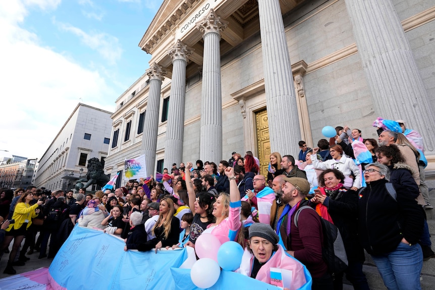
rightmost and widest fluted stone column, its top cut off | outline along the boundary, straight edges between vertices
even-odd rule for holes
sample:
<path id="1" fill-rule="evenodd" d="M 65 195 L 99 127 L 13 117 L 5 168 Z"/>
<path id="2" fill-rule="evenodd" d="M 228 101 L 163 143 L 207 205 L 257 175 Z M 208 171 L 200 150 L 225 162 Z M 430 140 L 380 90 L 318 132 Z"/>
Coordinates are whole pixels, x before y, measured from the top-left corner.
<path id="1" fill-rule="evenodd" d="M 392 1 L 345 2 L 378 114 L 374 118 L 405 120 L 421 134 L 426 151 L 433 151 L 432 105 Z"/>

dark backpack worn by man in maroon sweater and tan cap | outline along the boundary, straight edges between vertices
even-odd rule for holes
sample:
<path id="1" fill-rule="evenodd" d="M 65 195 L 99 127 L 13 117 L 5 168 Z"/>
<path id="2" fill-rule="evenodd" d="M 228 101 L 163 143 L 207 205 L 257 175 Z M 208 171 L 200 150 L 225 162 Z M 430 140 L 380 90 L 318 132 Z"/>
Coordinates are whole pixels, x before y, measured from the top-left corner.
<path id="1" fill-rule="evenodd" d="M 299 214 L 305 208 L 315 211 L 308 205 L 301 206 L 293 218 L 296 227 L 298 226 Z M 323 232 L 322 258 L 327 264 L 330 274 L 343 272 L 348 266 L 348 261 L 340 231 L 337 226 L 322 217 L 320 217 L 320 222 Z"/>

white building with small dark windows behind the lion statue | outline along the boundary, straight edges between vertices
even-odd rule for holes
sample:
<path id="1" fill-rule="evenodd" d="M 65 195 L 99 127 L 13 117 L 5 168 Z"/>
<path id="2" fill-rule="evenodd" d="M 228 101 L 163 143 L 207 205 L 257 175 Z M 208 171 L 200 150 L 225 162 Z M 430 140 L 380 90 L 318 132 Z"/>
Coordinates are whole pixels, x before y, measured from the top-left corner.
<path id="1" fill-rule="evenodd" d="M 111 114 L 79 103 L 39 159 L 34 185 L 71 189 L 76 180 L 86 176 L 87 160 L 96 157 L 104 162 L 111 141 Z"/>

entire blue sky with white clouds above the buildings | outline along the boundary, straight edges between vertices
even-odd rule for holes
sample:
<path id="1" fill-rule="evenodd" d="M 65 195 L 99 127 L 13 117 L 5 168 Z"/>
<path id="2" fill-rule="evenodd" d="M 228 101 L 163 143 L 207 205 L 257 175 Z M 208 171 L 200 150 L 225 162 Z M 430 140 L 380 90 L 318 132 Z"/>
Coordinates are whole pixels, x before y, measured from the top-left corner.
<path id="1" fill-rule="evenodd" d="M 113 112 L 162 0 L 0 1 L 0 157 L 40 158 L 79 102 Z"/>

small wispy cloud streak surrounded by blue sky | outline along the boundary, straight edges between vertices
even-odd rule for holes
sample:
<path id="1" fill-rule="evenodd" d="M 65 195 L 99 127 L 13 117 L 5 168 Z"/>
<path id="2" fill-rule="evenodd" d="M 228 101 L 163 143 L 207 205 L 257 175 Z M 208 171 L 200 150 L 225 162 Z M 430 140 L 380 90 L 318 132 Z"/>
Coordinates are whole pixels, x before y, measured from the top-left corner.
<path id="1" fill-rule="evenodd" d="M 86 33 L 80 28 L 74 27 L 68 23 L 57 22 L 53 19 L 53 23 L 58 25 L 61 30 L 68 31 L 78 36 L 81 42 L 97 51 L 108 63 L 115 65 L 121 59 L 122 48 L 117 37 L 104 32 Z"/>

